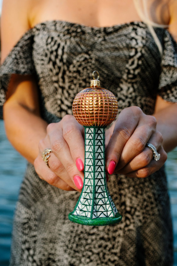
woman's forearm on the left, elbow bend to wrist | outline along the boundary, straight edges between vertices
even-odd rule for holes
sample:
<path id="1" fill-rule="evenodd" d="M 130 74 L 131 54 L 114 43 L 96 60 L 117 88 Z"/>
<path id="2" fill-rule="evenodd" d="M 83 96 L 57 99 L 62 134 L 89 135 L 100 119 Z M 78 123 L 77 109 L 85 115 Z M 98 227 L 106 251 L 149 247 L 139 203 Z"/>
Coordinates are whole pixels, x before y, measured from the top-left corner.
<path id="1" fill-rule="evenodd" d="M 3 112 L 9 141 L 33 164 L 39 153 L 38 143 L 46 136 L 47 123 L 32 111 L 10 100 L 5 103 Z"/>

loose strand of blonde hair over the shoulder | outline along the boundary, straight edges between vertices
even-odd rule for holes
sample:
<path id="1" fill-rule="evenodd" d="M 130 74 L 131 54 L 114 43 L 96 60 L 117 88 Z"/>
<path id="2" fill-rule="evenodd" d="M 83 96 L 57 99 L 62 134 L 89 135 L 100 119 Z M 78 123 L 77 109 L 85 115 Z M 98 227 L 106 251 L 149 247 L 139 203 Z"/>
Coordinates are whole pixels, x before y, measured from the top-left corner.
<path id="1" fill-rule="evenodd" d="M 150 33 L 152 34 L 154 41 L 155 41 L 155 43 L 159 49 L 160 55 L 162 56 L 163 48 L 162 48 L 162 45 L 161 45 L 153 27 L 165 28 L 168 26 L 167 25 L 161 25 L 161 24 L 155 23 L 152 20 L 150 20 L 149 14 L 148 14 L 147 0 L 133 0 L 133 1 L 134 1 L 138 15 L 140 16 L 142 21 L 144 21 L 147 24 L 147 26 L 150 30 Z M 140 1 L 142 1 L 142 4 Z"/>

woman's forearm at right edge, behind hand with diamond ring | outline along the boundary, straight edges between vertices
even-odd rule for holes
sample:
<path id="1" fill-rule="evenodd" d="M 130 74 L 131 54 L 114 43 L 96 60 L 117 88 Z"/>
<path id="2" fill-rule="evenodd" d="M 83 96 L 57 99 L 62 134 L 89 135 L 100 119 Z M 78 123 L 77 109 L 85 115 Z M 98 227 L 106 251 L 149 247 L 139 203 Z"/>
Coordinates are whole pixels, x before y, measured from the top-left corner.
<path id="1" fill-rule="evenodd" d="M 153 114 L 157 119 L 157 129 L 163 135 L 166 152 L 177 146 L 177 103 L 173 103 Z"/>

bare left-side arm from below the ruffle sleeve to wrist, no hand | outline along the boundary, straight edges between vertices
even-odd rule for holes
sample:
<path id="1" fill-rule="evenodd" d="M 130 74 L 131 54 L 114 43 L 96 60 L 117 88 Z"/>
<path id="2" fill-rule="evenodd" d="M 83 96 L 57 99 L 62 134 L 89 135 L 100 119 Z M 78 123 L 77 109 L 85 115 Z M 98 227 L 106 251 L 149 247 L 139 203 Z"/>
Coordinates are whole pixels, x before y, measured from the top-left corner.
<path id="1" fill-rule="evenodd" d="M 9 141 L 30 163 L 38 155 L 38 143 L 47 123 L 40 118 L 37 85 L 32 76 L 12 75 L 3 107 Z"/>

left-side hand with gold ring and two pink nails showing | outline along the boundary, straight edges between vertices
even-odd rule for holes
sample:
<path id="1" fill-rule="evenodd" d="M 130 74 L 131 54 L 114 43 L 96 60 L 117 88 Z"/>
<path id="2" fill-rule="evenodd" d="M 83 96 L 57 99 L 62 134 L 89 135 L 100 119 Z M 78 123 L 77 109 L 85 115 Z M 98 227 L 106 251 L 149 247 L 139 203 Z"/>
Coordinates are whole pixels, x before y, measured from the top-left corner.
<path id="1" fill-rule="evenodd" d="M 64 116 L 58 123 L 49 124 L 46 137 L 39 142 L 39 154 L 34 161 L 39 177 L 60 189 L 81 192 L 84 179 L 83 135 L 83 126 L 72 115 Z M 48 159 L 49 167 L 42 159 L 42 152 L 47 148 L 52 150 Z"/>

